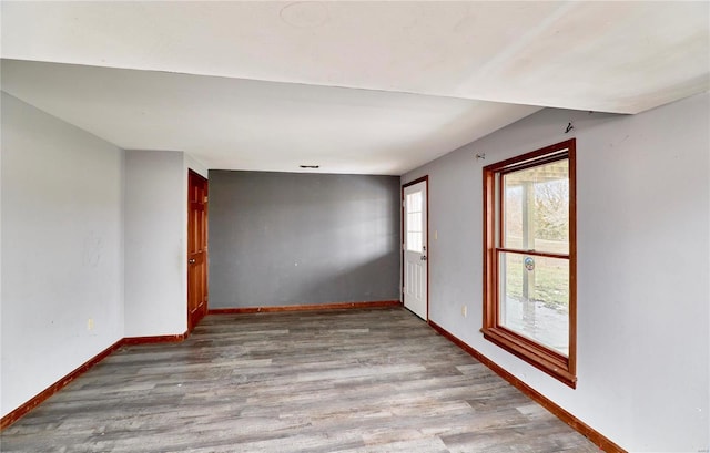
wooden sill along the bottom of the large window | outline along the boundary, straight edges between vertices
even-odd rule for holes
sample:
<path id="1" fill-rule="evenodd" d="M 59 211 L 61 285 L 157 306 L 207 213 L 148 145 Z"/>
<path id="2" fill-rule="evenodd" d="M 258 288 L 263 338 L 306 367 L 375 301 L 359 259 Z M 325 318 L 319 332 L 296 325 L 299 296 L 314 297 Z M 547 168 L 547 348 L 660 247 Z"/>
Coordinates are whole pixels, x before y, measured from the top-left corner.
<path id="1" fill-rule="evenodd" d="M 484 328 L 484 338 L 540 371 L 575 389 L 577 377 L 570 371 L 569 360 L 504 328 Z"/>

